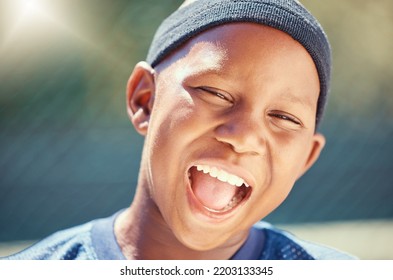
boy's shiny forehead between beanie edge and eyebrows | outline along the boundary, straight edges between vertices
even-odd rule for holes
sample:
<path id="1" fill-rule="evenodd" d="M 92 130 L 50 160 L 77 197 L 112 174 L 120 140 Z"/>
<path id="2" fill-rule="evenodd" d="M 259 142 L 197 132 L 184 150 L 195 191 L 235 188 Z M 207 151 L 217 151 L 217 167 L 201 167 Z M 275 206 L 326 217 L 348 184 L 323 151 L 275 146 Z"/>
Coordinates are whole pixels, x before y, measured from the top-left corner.
<path id="1" fill-rule="evenodd" d="M 282 31 L 255 23 L 231 23 L 205 31 L 177 49 L 158 68 L 169 65 L 181 65 L 176 69 L 179 74 L 241 72 L 243 76 L 257 73 L 268 77 L 280 72 L 316 73 L 311 56 L 299 42 Z"/>

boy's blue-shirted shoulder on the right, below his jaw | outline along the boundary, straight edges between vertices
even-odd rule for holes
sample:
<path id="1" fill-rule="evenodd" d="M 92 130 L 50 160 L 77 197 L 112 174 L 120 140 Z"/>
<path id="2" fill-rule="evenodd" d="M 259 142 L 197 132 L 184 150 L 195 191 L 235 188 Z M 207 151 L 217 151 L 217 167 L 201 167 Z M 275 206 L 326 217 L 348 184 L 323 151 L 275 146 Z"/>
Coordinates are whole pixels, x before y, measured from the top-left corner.
<path id="1" fill-rule="evenodd" d="M 286 260 L 346 260 L 355 257 L 324 246 L 321 244 L 302 240 L 295 235 L 280 230 L 269 223 L 258 222 L 254 229 L 263 232 L 265 246 L 261 255 L 262 259 Z"/>

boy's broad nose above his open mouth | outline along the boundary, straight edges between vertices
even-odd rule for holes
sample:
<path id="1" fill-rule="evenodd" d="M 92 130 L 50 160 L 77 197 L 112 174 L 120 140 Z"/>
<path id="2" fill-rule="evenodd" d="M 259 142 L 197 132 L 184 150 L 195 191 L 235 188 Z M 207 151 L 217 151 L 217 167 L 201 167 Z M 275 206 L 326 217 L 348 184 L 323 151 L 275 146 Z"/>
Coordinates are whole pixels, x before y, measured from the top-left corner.
<path id="1" fill-rule="evenodd" d="M 250 114 L 237 114 L 215 129 L 216 139 L 229 144 L 237 153 L 262 155 L 266 139 L 263 133 L 263 120 Z"/>

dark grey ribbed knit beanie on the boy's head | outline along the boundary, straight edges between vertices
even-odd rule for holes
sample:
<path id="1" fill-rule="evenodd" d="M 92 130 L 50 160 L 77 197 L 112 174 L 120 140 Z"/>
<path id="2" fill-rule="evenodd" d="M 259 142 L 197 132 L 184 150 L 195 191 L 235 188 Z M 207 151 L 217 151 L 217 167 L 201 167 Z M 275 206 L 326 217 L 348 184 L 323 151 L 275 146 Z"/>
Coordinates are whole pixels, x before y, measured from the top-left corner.
<path id="1" fill-rule="evenodd" d="M 323 114 L 330 86 L 331 50 L 318 21 L 296 0 L 197 0 L 184 5 L 158 28 L 147 55 L 153 67 L 201 32 L 231 22 L 253 22 L 289 34 L 309 52 L 316 65 L 320 94 L 316 124 Z"/>

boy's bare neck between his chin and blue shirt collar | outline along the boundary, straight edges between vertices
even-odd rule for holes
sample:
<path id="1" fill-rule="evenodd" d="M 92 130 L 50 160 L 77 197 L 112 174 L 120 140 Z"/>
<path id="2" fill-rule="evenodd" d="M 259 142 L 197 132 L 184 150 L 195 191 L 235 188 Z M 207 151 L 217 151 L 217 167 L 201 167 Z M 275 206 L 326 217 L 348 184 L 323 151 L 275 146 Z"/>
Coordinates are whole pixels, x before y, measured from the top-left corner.
<path id="1" fill-rule="evenodd" d="M 208 251 L 184 246 L 146 190 L 144 186 L 138 187 L 133 203 L 115 223 L 115 235 L 127 259 L 229 259 L 244 243 L 245 233 Z"/>

